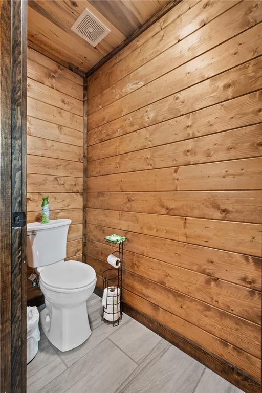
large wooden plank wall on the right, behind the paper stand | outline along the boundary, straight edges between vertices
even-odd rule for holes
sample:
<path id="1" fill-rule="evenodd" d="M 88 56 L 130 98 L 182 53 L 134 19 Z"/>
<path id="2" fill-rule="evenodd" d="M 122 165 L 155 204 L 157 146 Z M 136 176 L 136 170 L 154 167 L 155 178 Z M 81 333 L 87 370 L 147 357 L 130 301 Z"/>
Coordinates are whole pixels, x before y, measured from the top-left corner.
<path id="1" fill-rule="evenodd" d="M 260 378 L 262 3 L 185 0 L 88 80 L 87 262 Z"/>

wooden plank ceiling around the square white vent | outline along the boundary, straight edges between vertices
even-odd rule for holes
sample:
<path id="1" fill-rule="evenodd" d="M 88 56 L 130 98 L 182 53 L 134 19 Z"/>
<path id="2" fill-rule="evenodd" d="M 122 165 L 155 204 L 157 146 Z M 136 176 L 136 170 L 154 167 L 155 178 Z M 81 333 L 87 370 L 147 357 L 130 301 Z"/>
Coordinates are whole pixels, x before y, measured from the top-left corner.
<path id="1" fill-rule="evenodd" d="M 29 0 L 28 46 L 83 75 L 170 0 Z M 71 30 L 87 8 L 108 28 L 96 48 Z"/>

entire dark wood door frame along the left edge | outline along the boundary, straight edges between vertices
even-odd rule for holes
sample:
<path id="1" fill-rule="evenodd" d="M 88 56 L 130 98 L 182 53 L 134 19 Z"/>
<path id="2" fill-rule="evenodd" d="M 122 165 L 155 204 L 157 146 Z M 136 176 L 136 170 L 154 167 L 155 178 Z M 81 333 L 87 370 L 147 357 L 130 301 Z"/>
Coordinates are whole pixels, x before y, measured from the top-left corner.
<path id="1" fill-rule="evenodd" d="M 0 391 L 26 392 L 27 0 L 1 0 Z"/>

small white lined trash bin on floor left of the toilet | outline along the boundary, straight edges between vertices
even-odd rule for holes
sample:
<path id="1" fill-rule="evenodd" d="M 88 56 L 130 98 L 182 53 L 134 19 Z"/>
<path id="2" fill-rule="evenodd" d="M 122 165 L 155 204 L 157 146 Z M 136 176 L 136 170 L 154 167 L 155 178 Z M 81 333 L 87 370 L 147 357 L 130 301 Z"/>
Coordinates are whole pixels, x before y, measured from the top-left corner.
<path id="1" fill-rule="evenodd" d="M 40 331 L 38 327 L 39 312 L 37 308 L 27 307 L 27 364 L 35 357 L 38 351 Z"/>

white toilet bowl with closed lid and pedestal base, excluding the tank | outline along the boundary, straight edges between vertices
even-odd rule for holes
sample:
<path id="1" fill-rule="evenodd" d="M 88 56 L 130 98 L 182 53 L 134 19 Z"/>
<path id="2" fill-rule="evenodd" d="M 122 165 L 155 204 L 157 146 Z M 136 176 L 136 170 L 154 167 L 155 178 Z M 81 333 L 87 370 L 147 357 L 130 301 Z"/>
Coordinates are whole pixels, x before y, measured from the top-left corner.
<path id="1" fill-rule="evenodd" d="M 40 323 L 49 341 L 69 351 L 91 335 L 86 301 L 94 292 L 95 270 L 76 260 L 61 261 L 40 270 L 40 289 L 46 308 Z"/>

